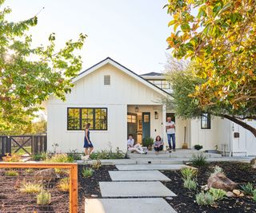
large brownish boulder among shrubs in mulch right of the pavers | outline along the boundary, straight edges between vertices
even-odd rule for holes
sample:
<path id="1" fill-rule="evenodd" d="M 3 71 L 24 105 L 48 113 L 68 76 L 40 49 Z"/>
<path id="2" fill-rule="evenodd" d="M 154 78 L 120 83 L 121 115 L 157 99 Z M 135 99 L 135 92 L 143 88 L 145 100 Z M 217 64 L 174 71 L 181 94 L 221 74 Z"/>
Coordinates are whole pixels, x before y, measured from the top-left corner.
<path id="1" fill-rule="evenodd" d="M 237 187 L 231 179 L 227 178 L 222 172 L 213 173 L 207 181 L 208 187 L 221 188 L 225 191 L 233 191 Z"/>

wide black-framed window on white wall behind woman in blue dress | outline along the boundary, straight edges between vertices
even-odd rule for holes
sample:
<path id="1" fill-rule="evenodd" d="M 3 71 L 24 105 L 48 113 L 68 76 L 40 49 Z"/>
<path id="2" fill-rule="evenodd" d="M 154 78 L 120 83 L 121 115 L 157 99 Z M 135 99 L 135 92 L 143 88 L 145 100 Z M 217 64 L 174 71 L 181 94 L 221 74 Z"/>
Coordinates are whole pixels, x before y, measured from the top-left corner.
<path id="1" fill-rule="evenodd" d="M 84 130 L 87 123 L 92 130 L 107 130 L 107 108 L 67 108 L 68 130 Z"/>

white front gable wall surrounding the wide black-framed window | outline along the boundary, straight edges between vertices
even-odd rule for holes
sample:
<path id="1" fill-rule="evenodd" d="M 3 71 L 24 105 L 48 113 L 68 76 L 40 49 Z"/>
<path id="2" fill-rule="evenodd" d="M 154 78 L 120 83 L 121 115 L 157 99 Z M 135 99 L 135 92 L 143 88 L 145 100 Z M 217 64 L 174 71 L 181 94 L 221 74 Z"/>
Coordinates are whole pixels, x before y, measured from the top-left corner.
<path id="1" fill-rule="evenodd" d="M 104 75 L 110 75 L 110 85 L 104 85 Z M 47 101 L 48 148 L 52 150 L 52 144 L 58 143 L 58 152 L 68 152 L 72 149 L 82 152 L 84 131 L 67 130 L 67 108 L 106 107 L 108 129 L 90 131 L 94 148 L 109 149 L 111 143 L 113 149 L 118 147 L 126 150 L 127 105 L 160 105 L 158 100 L 160 93 L 154 89 L 143 85 L 113 65 L 104 65 L 76 81 L 72 92 L 66 95 L 66 102 L 54 97 Z M 154 120 L 154 113 L 151 118 Z M 160 114 L 158 120 L 161 120 Z M 151 130 L 156 126 L 158 131 L 159 122 L 151 124 Z"/>

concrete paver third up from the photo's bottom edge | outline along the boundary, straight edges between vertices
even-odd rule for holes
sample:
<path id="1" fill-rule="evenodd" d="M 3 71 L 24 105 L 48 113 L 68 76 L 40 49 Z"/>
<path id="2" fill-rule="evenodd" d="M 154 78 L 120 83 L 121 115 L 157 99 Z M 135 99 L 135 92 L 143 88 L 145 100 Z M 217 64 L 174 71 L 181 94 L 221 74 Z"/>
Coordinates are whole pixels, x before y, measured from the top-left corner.
<path id="1" fill-rule="evenodd" d="M 168 177 L 166 177 L 161 172 L 154 171 L 109 171 L 110 177 L 113 181 L 170 181 Z"/>

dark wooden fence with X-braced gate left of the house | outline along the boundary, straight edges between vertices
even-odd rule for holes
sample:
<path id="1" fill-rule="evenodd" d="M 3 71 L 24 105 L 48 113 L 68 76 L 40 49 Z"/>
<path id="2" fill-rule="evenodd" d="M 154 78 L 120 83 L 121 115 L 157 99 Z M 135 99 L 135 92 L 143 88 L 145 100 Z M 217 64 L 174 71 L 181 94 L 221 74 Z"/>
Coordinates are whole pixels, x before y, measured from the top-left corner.
<path id="1" fill-rule="evenodd" d="M 13 151 L 14 147 L 16 149 Z M 47 136 L 0 136 L 0 156 L 17 153 L 20 150 L 28 155 L 46 152 Z"/>

